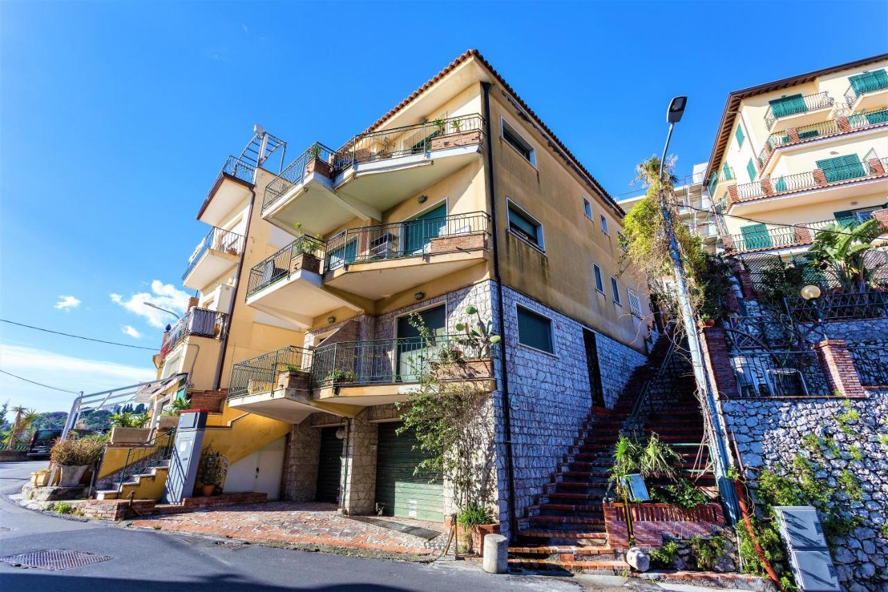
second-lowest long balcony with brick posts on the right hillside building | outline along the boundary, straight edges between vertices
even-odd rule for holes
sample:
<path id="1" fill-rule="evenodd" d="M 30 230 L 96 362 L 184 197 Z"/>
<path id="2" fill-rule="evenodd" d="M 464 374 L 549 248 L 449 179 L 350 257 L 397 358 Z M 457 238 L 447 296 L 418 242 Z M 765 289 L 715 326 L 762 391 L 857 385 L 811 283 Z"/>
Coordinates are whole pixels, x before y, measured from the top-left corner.
<path id="1" fill-rule="evenodd" d="M 794 175 L 782 175 L 776 179 L 765 178 L 729 187 L 728 209 L 732 209 L 738 204 L 744 204 L 744 212 L 754 212 L 771 207 L 769 205 L 753 205 L 754 203 L 802 193 L 808 194 L 805 196 L 808 203 L 831 201 L 855 195 L 858 193 L 857 186 L 860 183 L 872 183 L 874 185 L 872 191 L 874 192 L 883 188 L 888 190 L 886 167 L 888 167 L 888 158 L 869 158 L 864 163 L 814 169 Z M 816 198 L 812 196 L 811 192 L 827 188 L 830 189 L 829 195 L 824 194 Z"/>

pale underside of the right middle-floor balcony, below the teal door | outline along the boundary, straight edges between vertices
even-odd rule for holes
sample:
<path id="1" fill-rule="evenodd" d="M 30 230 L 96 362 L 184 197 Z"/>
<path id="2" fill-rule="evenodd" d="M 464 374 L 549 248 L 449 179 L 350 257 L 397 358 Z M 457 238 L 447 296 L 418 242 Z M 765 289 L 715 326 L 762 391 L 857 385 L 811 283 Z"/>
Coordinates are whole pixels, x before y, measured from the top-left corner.
<path id="1" fill-rule="evenodd" d="M 327 272 L 324 285 L 370 300 L 379 300 L 461 269 L 470 268 L 487 259 L 486 250 L 475 249 L 356 262 Z"/>

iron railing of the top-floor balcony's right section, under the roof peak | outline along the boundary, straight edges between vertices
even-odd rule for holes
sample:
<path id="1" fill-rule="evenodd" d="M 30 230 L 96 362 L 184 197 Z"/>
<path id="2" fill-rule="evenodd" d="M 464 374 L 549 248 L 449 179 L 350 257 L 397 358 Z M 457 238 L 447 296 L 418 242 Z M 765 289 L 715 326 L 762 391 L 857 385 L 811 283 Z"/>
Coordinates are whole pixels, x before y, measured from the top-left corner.
<path id="1" fill-rule="evenodd" d="M 336 151 L 334 169 L 340 172 L 356 163 L 424 154 L 437 147 L 458 146 L 461 142 L 480 143 L 483 129 L 484 118 L 472 114 L 362 133 L 345 142 Z M 445 138 L 449 138 L 449 141 L 444 140 Z"/>

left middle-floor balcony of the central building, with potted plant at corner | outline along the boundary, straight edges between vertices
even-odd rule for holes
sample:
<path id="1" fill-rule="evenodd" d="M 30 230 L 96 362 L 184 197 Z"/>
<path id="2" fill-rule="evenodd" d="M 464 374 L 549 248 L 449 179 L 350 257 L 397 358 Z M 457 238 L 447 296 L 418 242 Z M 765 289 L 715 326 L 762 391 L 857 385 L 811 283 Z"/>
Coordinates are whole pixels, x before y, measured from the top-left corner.
<path id="1" fill-rule="evenodd" d="M 247 304 L 304 329 L 336 308 L 359 310 L 321 286 L 325 248 L 321 240 L 300 236 L 258 263 L 247 280 Z"/>

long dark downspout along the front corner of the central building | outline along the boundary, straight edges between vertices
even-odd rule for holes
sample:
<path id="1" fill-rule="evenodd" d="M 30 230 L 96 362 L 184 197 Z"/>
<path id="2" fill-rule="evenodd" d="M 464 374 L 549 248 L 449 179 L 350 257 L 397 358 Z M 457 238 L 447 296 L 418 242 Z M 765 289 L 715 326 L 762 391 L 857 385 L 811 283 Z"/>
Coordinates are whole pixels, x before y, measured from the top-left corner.
<path id="1" fill-rule="evenodd" d="M 484 132 L 488 136 L 488 199 L 490 204 L 490 225 L 493 241 L 494 255 L 494 283 L 496 284 L 496 312 L 499 317 L 499 334 L 502 338 L 500 350 L 500 364 L 503 366 L 503 429 L 505 431 L 505 457 L 506 473 L 509 482 L 509 537 L 515 540 L 518 534 L 518 518 L 515 511 L 515 467 L 511 452 L 511 405 L 509 403 L 509 372 L 506 366 L 505 354 L 505 308 L 503 306 L 503 280 L 500 277 L 499 268 L 499 230 L 496 226 L 496 190 L 494 188 L 494 152 L 493 135 L 490 132 L 490 83 L 481 83 L 484 89 Z"/>

